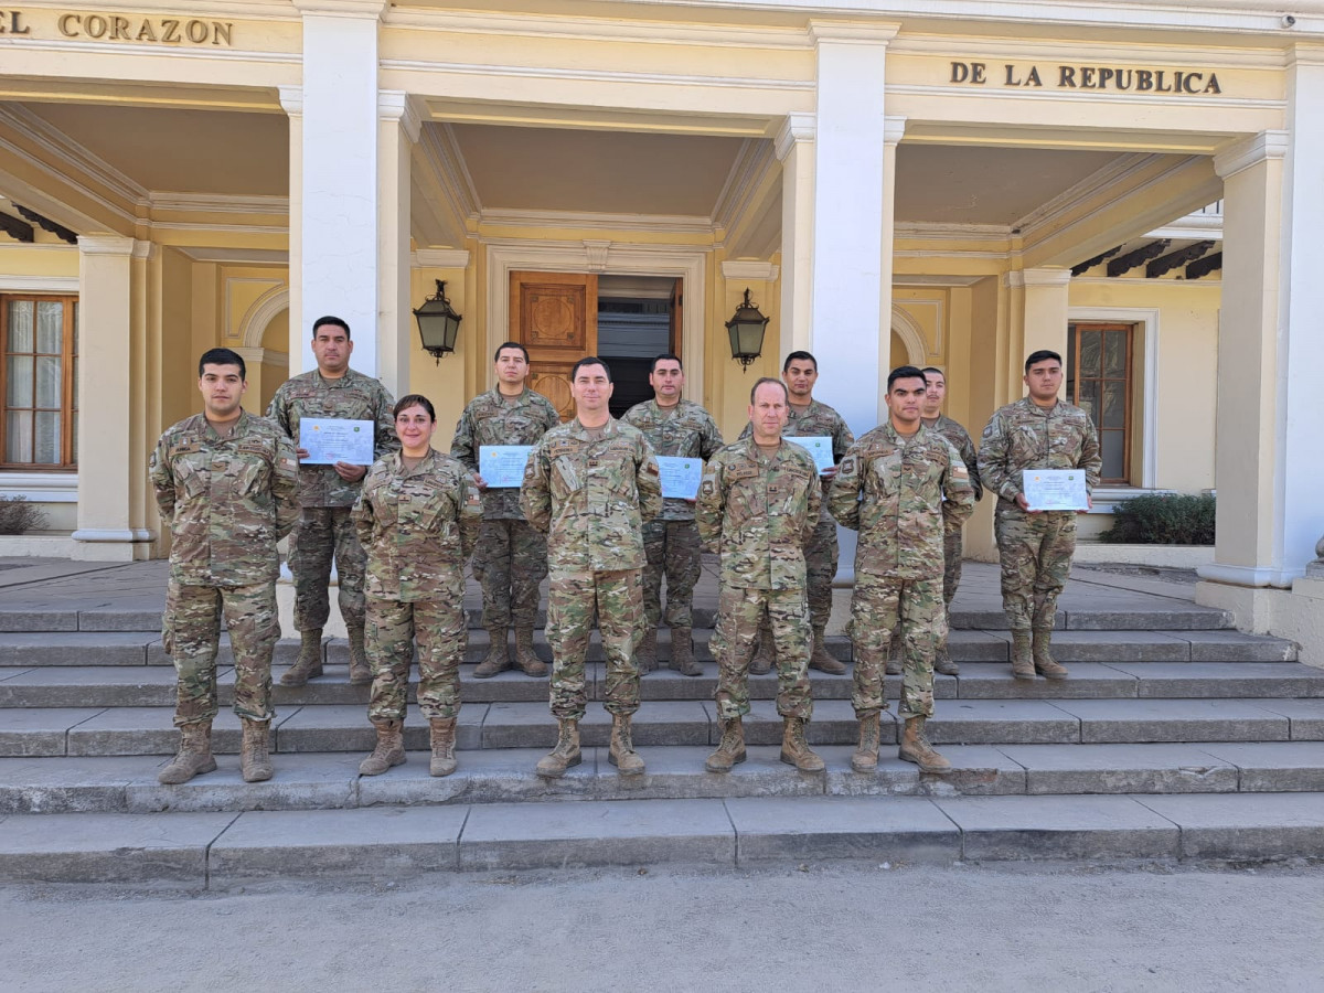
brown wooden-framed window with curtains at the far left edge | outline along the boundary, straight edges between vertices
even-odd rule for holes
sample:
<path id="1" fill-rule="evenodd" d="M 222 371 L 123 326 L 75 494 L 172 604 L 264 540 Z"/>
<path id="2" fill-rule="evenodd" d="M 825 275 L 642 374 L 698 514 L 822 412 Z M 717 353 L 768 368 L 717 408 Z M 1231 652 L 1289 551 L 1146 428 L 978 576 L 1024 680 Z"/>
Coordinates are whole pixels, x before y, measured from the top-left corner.
<path id="1" fill-rule="evenodd" d="M 3 465 L 75 465 L 77 319 L 74 297 L 0 297 Z"/>

